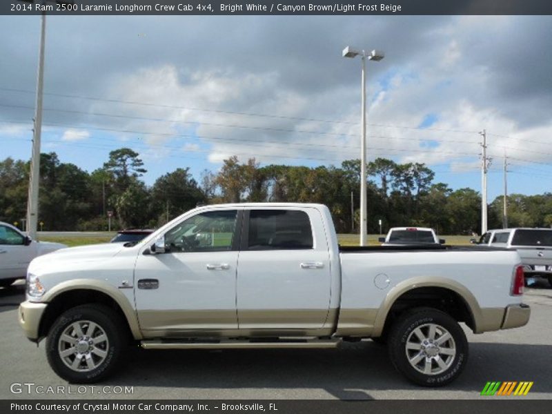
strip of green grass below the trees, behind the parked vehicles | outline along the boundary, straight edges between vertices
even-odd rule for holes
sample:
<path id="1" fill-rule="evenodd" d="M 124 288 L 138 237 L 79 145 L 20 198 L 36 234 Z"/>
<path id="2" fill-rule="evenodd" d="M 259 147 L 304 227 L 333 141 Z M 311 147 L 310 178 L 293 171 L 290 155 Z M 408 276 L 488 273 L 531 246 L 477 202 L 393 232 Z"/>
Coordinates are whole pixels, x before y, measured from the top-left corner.
<path id="1" fill-rule="evenodd" d="M 108 243 L 110 239 L 115 235 L 115 233 L 105 232 L 105 235 L 95 233 L 75 233 L 75 235 L 59 235 L 59 236 L 43 236 L 40 237 L 40 240 L 43 242 L 56 242 L 63 243 L 69 247 L 74 246 L 86 246 L 87 244 L 97 244 L 97 243 Z M 378 237 L 383 237 L 380 235 L 368 235 L 368 246 L 379 246 L 380 243 L 377 242 Z M 339 239 L 339 244 L 342 246 L 358 246 L 359 236 L 358 235 L 346 235 L 341 234 L 337 235 Z M 455 236 L 455 235 L 442 235 L 441 239 L 445 239 L 446 244 L 451 244 L 453 246 L 469 246 L 471 236 Z M 215 240 L 215 244 L 222 242 L 222 240 Z"/>

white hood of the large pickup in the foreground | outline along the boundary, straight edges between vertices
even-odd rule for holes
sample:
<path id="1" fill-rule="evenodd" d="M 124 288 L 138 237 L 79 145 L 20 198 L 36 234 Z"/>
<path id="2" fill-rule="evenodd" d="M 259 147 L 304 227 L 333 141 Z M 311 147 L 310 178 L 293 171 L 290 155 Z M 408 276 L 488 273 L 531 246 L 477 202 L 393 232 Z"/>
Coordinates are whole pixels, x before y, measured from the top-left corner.
<path id="1" fill-rule="evenodd" d="M 48 253 L 48 255 L 33 259 L 29 265 L 29 272 L 37 266 L 55 266 L 57 262 L 97 262 L 99 259 L 117 255 L 124 248 L 119 243 L 90 244 L 89 246 L 61 248 L 60 250 Z"/>

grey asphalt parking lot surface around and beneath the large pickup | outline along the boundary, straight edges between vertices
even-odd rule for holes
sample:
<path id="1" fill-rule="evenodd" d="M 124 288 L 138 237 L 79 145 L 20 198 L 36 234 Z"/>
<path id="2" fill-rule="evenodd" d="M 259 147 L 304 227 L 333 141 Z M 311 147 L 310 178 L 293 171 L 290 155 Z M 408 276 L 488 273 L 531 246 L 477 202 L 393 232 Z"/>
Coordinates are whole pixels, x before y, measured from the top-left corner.
<path id="1" fill-rule="evenodd" d="M 524 302 L 532 308 L 527 326 L 482 335 L 466 331 L 469 363 L 456 382 L 440 389 L 406 382 L 391 366 L 386 348 L 371 341 L 333 350 L 137 348 L 105 383 L 68 388 L 50 370 L 43 342 L 37 348 L 17 324 L 23 293 L 23 284 L 0 289 L 1 399 L 473 399 L 488 381 L 533 381 L 522 398 L 552 398 L 552 289 L 545 282 L 526 289 Z M 47 393 L 48 386 L 64 386 L 65 394 Z M 125 388 L 132 392 L 124 393 Z"/>

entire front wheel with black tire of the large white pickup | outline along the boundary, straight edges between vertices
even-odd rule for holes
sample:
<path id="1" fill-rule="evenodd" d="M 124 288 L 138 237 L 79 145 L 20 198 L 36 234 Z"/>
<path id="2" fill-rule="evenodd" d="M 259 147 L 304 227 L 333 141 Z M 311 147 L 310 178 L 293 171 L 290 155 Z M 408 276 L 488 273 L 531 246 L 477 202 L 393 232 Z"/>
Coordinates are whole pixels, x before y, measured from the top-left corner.
<path id="1" fill-rule="evenodd" d="M 121 317 L 108 306 L 87 304 L 70 308 L 57 318 L 48 333 L 48 364 L 68 382 L 99 382 L 119 364 L 127 342 L 126 332 Z"/>

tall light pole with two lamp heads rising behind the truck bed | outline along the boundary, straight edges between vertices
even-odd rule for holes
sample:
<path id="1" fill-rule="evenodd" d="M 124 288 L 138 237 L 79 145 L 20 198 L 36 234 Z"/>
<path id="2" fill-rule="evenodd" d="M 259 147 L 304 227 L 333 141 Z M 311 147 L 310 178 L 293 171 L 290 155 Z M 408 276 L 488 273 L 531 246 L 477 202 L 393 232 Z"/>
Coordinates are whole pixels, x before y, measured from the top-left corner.
<path id="1" fill-rule="evenodd" d="M 360 246 L 366 246 L 366 229 L 367 229 L 367 210 L 366 203 L 366 58 L 368 60 L 380 61 L 384 58 L 384 52 L 380 50 L 372 50 L 366 53 L 364 50 L 355 50 L 349 46 L 344 48 L 343 57 L 356 57 L 360 55 L 362 58 L 362 115 L 361 126 L 362 132 L 360 136 Z"/>

